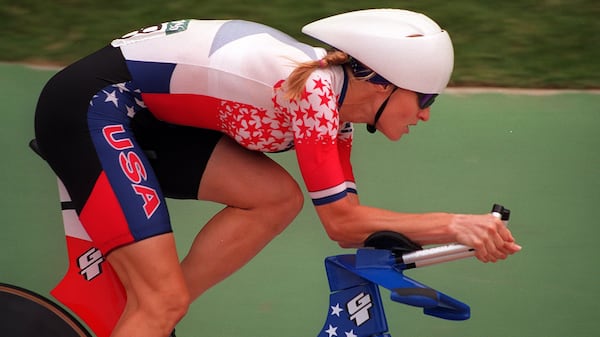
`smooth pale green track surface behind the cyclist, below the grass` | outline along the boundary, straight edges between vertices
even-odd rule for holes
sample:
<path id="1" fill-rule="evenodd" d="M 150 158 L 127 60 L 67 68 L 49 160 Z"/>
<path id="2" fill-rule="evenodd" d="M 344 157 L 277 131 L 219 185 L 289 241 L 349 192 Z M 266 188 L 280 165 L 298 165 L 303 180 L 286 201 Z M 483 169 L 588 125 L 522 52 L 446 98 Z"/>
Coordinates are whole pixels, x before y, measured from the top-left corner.
<path id="1" fill-rule="evenodd" d="M 46 296 L 66 271 L 66 250 L 55 177 L 27 143 L 37 96 L 53 73 L 0 64 L 0 282 Z M 598 106 L 600 95 L 590 93 L 446 94 L 431 120 L 398 143 L 358 128 L 354 166 L 363 203 L 473 213 L 502 203 L 523 246 L 497 264 L 469 259 L 408 272 L 468 303 L 472 318 L 424 316 L 383 290 L 393 337 L 597 334 Z M 293 153 L 273 157 L 299 177 Z M 219 207 L 169 206 L 183 255 Z M 323 259 L 348 252 L 328 240 L 307 203 L 287 231 L 192 306 L 178 336 L 316 336 L 328 310 Z"/>

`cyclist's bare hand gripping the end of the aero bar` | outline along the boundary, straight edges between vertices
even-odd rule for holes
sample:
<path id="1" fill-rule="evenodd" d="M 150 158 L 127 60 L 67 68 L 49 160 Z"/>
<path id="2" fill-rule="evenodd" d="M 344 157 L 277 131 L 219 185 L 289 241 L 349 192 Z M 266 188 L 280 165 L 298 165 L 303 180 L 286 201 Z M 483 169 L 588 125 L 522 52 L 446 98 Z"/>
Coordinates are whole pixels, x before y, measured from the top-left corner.
<path id="1" fill-rule="evenodd" d="M 504 260 L 521 250 L 502 220 L 491 214 L 456 214 L 450 228 L 458 243 L 473 247 L 482 262 Z"/>

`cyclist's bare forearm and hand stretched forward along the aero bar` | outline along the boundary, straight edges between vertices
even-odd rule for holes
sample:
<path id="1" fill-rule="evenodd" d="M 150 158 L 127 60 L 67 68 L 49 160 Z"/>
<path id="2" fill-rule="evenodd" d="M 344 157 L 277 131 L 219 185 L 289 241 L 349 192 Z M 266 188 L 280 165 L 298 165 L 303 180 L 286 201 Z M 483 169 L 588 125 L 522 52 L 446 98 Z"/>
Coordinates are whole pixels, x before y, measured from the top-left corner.
<path id="1" fill-rule="evenodd" d="M 399 213 L 360 205 L 352 197 L 315 206 L 329 237 L 359 247 L 374 232 L 394 231 L 420 245 L 458 242 L 475 248 L 481 261 L 504 259 L 521 249 L 491 214 Z"/>

